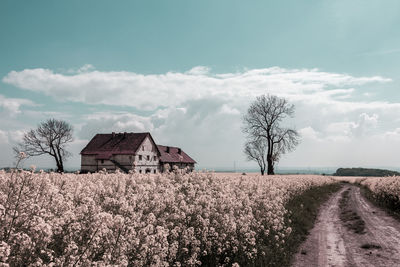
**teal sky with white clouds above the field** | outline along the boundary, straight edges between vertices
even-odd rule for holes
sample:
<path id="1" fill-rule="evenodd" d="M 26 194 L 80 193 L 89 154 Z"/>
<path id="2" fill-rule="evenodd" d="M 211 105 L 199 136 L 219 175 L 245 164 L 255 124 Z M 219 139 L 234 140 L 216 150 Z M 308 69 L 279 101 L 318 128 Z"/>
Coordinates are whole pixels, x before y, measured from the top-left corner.
<path id="1" fill-rule="evenodd" d="M 199 169 L 256 167 L 242 117 L 262 94 L 296 108 L 301 143 L 279 167 L 400 167 L 399 25 L 395 0 L 2 0 L 0 167 L 49 118 L 74 128 L 69 169 L 113 131 Z"/>

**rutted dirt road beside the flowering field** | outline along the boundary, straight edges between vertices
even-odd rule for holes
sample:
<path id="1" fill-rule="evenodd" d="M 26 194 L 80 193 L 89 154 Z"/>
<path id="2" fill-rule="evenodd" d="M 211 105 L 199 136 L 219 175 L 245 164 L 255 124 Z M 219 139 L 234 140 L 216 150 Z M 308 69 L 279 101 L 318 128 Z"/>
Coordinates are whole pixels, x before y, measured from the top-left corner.
<path id="1" fill-rule="evenodd" d="M 321 207 L 293 266 L 400 266 L 400 222 L 346 185 Z"/>

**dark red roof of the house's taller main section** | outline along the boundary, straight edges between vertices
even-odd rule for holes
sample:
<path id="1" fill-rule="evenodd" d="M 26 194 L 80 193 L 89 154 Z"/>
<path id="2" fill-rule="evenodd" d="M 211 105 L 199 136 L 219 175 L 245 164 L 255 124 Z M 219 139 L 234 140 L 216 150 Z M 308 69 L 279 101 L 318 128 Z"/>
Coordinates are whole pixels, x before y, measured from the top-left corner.
<path id="1" fill-rule="evenodd" d="M 134 154 L 147 136 L 153 140 L 150 133 L 96 134 L 82 149 L 81 155 L 109 159 L 113 154 Z"/>

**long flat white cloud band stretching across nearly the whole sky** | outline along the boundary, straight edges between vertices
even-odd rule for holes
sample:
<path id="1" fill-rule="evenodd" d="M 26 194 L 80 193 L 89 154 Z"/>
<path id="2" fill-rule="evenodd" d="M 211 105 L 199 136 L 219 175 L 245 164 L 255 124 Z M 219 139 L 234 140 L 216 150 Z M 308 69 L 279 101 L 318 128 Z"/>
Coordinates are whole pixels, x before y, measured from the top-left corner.
<path id="1" fill-rule="evenodd" d="M 85 65 L 72 75 L 49 69 L 11 71 L 3 82 L 42 92 L 55 99 L 90 104 L 133 106 L 152 110 L 160 105 L 177 106 L 190 100 L 215 97 L 237 102 L 239 99 L 272 93 L 293 100 L 330 103 L 349 98 L 353 88 L 371 82 L 389 82 L 380 76 L 353 77 L 322 72 L 318 69 L 284 69 L 279 67 L 212 74 L 203 66 L 187 72 L 137 74 L 126 71 L 97 71 Z M 331 87 L 342 87 L 333 88 Z"/>

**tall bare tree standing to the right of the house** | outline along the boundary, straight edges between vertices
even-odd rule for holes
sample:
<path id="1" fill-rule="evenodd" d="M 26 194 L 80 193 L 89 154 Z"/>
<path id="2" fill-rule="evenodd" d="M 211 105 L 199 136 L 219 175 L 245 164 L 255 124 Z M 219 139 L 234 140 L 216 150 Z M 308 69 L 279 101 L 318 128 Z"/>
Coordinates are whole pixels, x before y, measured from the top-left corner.
<path id="1" fill-rule="evenodd" d="M 250 150 L 246 149 L 249 143 L 246 144 L 245 153 L 248 159 L 259 162 L 260 159 L 262 160 L 261 154 L 254 154 L 254 151 L 261 152 L 257 147 L 265 146 L 267 174 L 274 174 L 274 164 L 279 161 L 281 155 L 292 151 L 299 143 L 299 134 L 296 130 L 280 125 L 284 118 L 293 117 L 293 115 L 294 105 L 290 105 L 285 98 L 262 95 L 251 103 L 243 116 L 243 132 L 247 134 L 252 144 Z M 261 143 L 255 146 L 254 142 Z M 258 158 L 253 158 L 250 152 L 253 152 L 253 156 L 258 155 Z"/>

